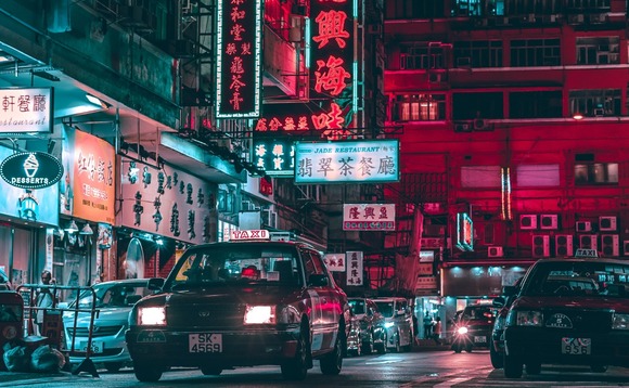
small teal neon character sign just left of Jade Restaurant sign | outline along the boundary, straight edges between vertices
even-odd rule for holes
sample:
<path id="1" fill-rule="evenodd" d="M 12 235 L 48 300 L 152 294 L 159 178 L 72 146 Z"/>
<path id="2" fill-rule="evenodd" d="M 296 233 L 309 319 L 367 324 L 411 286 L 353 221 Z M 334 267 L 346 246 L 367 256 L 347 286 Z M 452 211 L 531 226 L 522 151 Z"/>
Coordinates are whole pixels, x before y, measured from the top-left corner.
<path id="1" fill-rule="evenodd" d="M 292 177 L 295 173 L 294 141 L 288 138 L 256 138 L 252 161 L 269 177 Z"/>

